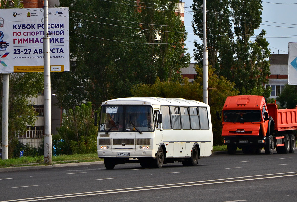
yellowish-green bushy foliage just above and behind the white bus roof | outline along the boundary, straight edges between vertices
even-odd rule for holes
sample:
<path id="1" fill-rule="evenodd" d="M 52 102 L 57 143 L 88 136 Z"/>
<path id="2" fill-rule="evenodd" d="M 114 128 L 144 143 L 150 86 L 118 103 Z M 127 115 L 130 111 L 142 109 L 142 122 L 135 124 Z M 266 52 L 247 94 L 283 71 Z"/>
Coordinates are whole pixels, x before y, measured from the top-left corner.
<path id="1" fill-rule="evenodd" d="M 211 121 L 214 137 L 214 145 L 222 145 L 222 122 L 216 118 L 216 111 L 222 111 L 226 97 L 238 95 L 234 89 L 234 83 L 229 82 L 225 77 L 218 77 L 214 69 L 208 66 L 209 105 L 211 110 Z M 202 68 L 196 66 L 198 72 L 196 80 L 191 83 L 184 79 L 182 83 L 173 81 L 161 82 L 159 79 L 153 85 L 136 85 L 131 90 L 133 96 L 144 97 L 166 97 L 184 98 L 187 100 L 203 101 L 202 89 Z"/>

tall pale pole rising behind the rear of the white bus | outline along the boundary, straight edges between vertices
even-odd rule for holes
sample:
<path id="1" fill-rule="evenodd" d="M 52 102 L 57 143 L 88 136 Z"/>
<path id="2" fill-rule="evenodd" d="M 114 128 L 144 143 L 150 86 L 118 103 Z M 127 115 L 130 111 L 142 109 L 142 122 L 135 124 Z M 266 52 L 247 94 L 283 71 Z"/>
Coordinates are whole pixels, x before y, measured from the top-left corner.
<path id="1" fill-rule="evenodd" d="M 202 54 L 202 84 L 203 102 L 208 104 L 208 53 L 206 45 L 206 0 L 203 0 L 203 54 Z"/>

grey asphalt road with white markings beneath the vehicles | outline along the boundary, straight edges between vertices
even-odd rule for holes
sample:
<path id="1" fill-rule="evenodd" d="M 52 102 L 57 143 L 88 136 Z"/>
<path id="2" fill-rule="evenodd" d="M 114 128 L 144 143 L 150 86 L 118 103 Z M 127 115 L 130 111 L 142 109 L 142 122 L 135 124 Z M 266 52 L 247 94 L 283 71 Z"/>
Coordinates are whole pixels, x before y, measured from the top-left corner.
<path id="1" fill-rule="evenodd" d="M 297 201 L 296 154 L 216 154 L 194 167 L 138 163 L 0 173 L 0 201 Z"/>

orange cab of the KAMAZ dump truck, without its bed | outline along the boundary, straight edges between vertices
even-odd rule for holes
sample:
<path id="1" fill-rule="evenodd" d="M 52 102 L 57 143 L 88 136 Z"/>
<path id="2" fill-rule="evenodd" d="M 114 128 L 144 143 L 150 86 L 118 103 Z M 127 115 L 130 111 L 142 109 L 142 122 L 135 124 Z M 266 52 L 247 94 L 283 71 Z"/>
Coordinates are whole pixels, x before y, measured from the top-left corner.
<path id="1" fill-rule="evenodd" d="M 261 152 L 267 145 L 271 124 L 274 125 L 263 96 L 227 97 L 222 111 L 222 136 L 228 153 L 235 154 L 237 148 L 244 153 Z"/>

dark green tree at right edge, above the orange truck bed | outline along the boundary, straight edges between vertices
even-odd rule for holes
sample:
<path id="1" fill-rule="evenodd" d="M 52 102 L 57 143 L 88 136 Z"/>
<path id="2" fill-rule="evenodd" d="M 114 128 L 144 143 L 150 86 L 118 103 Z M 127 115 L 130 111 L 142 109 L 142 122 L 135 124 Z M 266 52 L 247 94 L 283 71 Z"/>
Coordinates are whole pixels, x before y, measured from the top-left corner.
<path id="1" fill-rule="evenodd" d="M 297 86 L 285 85 L 281 94 L 277 97 L 281 108 L 296 108 L 297 105 Z"/>

